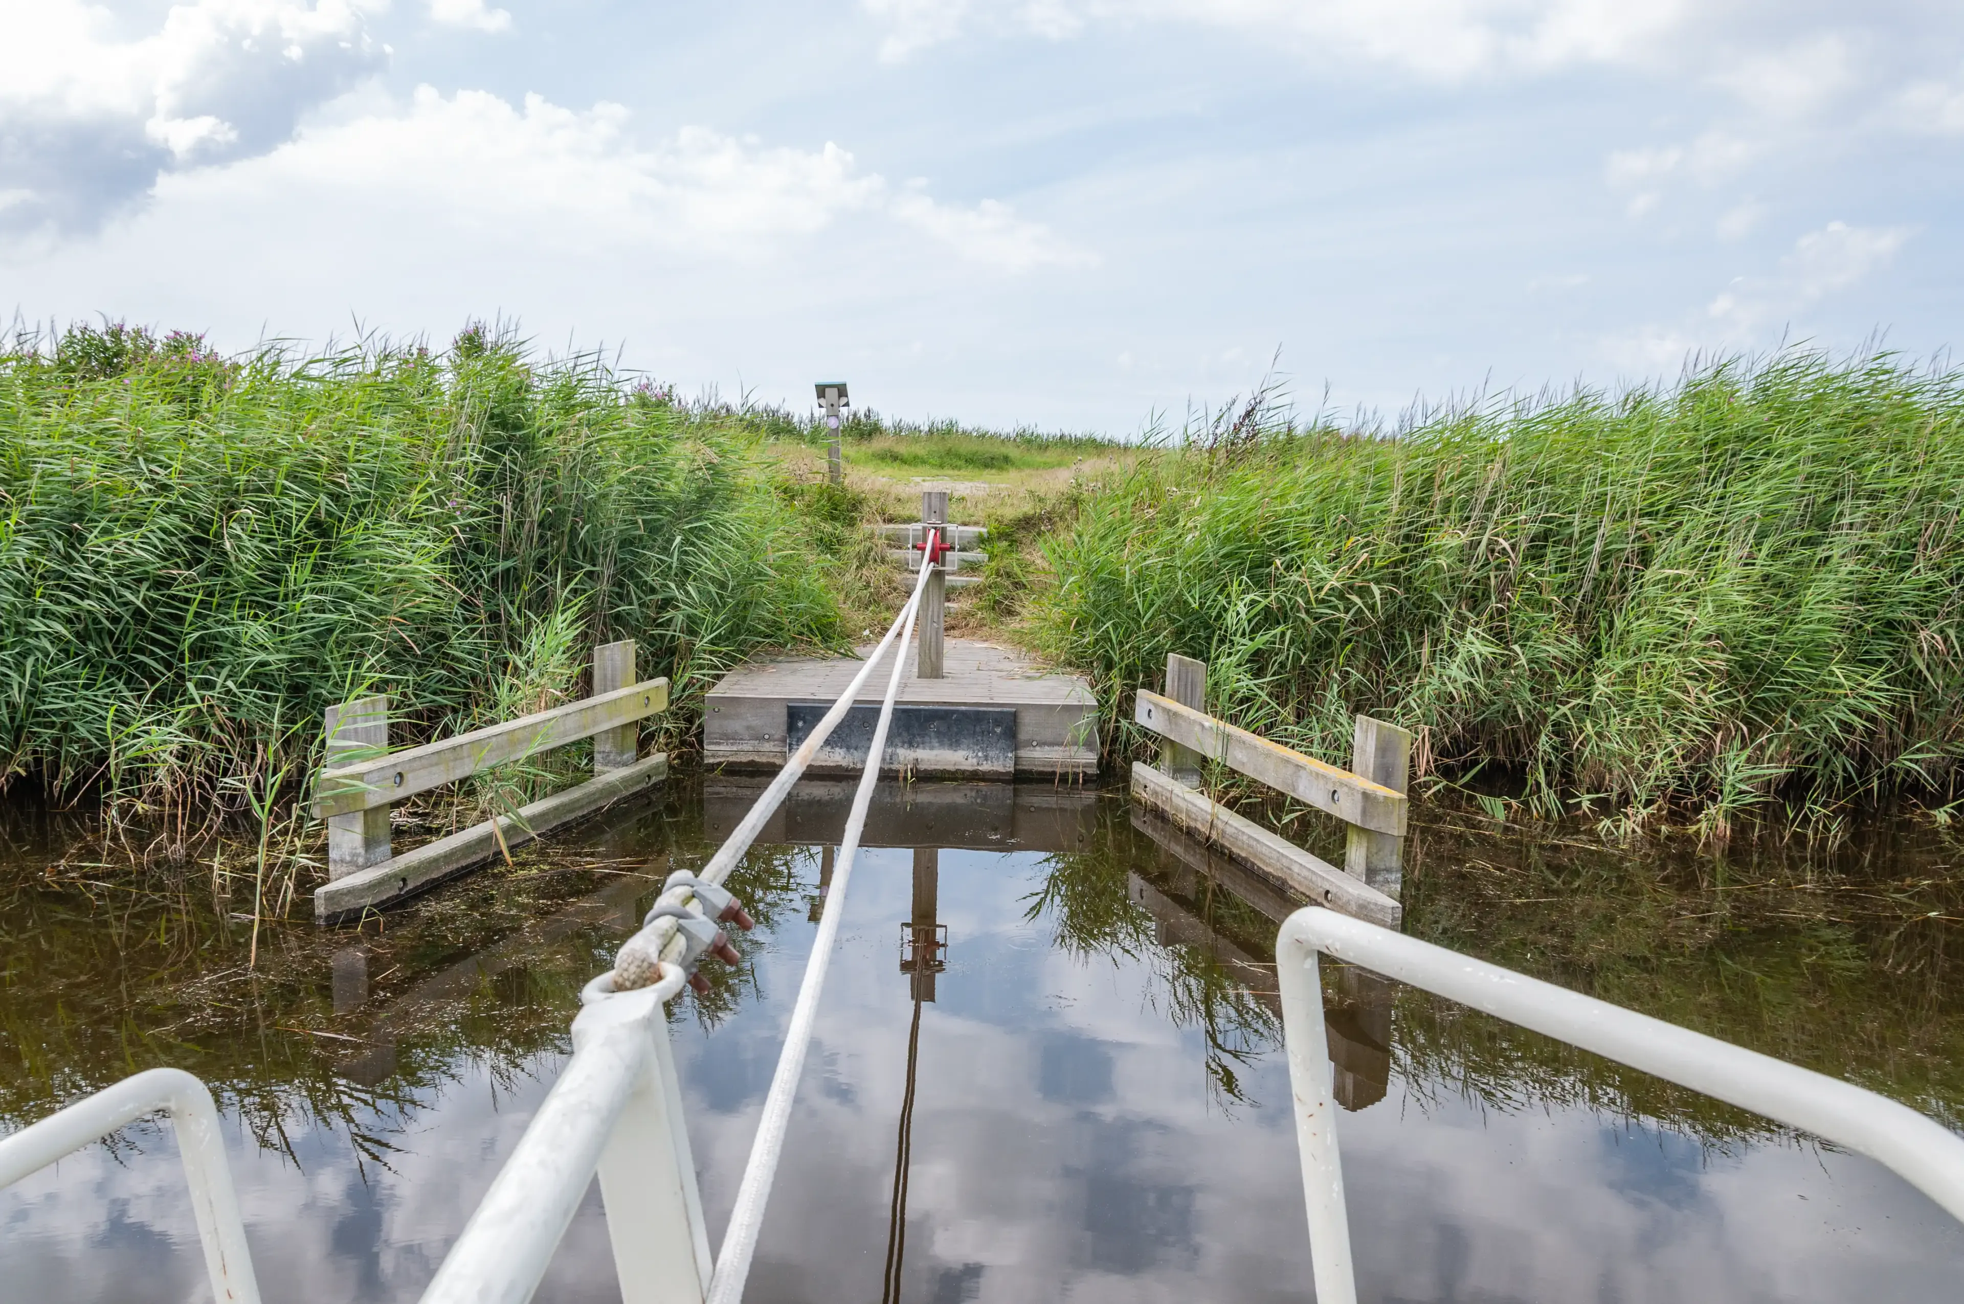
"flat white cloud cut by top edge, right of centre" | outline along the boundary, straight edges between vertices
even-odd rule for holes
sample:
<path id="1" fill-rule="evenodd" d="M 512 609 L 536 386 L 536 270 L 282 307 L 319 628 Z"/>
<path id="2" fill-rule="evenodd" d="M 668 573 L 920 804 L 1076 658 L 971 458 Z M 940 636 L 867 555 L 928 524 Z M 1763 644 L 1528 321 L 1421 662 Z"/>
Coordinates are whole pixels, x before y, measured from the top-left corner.
<path id="1" fill-rule="evenodd" d="M 1184 22 L 1281 35 L 1322 57 L 1359 55 L 1457 81 L 1510 69 L 1648 57 L 1685 0 L 862 0 L 905 59 L 966 31 L 1066 37 L 1092 24 Z"/>

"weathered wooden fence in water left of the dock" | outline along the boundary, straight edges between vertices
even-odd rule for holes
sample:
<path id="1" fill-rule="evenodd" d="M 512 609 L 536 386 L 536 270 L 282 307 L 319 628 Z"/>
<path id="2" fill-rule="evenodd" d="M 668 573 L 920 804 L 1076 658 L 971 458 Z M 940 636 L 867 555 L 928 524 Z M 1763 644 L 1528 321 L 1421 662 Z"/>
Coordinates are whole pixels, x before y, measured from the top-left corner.
<path id="1" fill-rule="evenodd" d="M 389 750 L 387 697 L 328 707 L 326 766 L 314 782 L 314 817 L 328 823 L 328 882 L 314 892 L 314 919 L 338 923 L 393 905 L 660 782 L 668 754 L 638 758 L 640 721 L 666 709 L 668 679 L 634 683 L 632 638 L 593 650 L 593 695 L 583 701 L 401 752 Z M 581 738 L 593 738 L 591 780 L 393 854 L 391 803 Z"/>

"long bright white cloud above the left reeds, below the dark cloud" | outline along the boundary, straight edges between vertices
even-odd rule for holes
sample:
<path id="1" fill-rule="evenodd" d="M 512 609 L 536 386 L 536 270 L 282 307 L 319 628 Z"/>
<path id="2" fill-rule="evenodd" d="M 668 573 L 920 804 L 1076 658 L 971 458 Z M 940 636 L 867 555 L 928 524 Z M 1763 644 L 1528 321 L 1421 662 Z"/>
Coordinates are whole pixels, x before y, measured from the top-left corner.
<path id="1" fill-rule="evenodd" d="M 862 216 L 919 230 L 956 255 L 1025 271 L 1084 253 L 1008 204 L 972 208 L 892 187 L 827 143 L 766 147 L 707 128 L 642 143 L 619 104 L 572 110 L 528 94 L 511 104 L 485 90 L 444 96 L 418 86 L 403 112 L 304 130 L 249 167 L 173 183 L 255 202 L 320 196 L 348 212 L 509 228 L 542 245 L 662 247 L 752 257 Z"/>

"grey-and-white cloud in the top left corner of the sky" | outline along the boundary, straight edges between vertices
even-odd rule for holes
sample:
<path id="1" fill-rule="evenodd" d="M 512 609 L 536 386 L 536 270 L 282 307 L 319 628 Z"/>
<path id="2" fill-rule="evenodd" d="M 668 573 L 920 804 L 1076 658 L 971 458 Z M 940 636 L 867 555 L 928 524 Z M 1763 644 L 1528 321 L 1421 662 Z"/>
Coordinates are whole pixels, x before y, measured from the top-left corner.
<path id="1" fill-rule="evenodd" d="M 0 234 L 88 230 L 159 173 L 259 153 L 385 59 L 346 0 L 196 0 L 116 35 L 79 0 L 0 0 Z"/>

